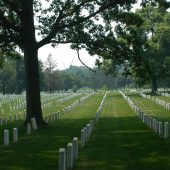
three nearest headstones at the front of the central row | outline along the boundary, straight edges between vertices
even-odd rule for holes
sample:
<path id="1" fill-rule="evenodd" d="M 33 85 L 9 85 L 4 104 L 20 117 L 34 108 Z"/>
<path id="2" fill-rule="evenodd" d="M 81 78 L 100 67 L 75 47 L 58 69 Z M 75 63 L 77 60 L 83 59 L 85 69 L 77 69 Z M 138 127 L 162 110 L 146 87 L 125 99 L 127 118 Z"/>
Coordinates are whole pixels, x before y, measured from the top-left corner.
<path id="1" fill-rule="evenodd" d="M 72 143 L 66 148 L 59 149 L 59 170 L 72 169 L 78 159 L 78 138 L 74 137 Z"/>

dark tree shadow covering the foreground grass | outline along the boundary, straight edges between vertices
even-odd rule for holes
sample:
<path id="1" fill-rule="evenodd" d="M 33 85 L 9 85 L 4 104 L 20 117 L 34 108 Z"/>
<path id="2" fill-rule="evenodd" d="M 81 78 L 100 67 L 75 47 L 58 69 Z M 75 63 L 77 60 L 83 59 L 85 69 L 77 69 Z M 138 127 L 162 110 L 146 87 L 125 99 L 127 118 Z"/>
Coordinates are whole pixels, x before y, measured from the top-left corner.
<path id="1" fill-rule="evenodd" d="M 58 150 L 66 147 L 89 119 L 61 119 L 47 128 L 0 146 L 1 170 L 58 169 Z M 75 170 L 167 170 L 170 140 L 164 140 L 136 117 L 101 117 Z"/>

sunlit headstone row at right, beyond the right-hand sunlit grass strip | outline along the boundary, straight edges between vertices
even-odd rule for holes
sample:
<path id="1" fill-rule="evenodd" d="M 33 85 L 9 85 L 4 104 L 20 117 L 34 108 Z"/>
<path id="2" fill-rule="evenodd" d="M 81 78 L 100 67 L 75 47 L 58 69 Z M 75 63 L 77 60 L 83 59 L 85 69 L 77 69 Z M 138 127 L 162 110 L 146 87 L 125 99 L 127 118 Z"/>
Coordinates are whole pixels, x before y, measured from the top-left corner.
<path id="1" fill-rule="evenodd" d="M 170 103 L 166 103 L 166 102 L 163 101 L 163 100 L 160 100 L 160 99 L 158 99 L 158 98 L 156 98 L 156 97 L 151 97 L 150 95 L 146 95 L 146 94 L 144 94 L 144 93 L 142 93 L 142 92 L 140 92 L 139 94 L 140 94 L 143 98 L 151 99 L 153 102 L 155 102 L 155 103 L 163 106 L 164 108 L 170 110 Z"/>

